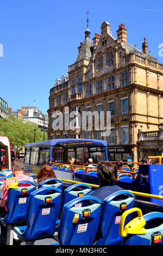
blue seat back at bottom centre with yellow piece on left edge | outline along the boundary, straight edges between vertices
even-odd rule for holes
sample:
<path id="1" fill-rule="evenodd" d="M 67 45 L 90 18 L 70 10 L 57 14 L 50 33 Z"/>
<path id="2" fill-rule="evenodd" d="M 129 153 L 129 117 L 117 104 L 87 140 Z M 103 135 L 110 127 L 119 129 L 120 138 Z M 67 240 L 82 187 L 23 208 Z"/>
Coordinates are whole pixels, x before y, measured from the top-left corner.
<path id="1" fill-rule="evenodd" d="M 80 207 L 88 200 L 91 200 L 89 206 Z M 59 224 L 59 244 L 93 245 L 100 213 L 101 200 L 95 197 L 83 196 L 67 203 L 64 206 Z"/>

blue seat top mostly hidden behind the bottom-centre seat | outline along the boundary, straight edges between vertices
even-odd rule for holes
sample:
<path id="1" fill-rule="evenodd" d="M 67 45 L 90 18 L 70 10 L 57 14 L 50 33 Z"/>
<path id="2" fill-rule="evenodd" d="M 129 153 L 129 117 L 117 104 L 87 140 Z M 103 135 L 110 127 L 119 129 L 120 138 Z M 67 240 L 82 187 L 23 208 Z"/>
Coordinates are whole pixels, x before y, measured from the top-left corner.
<path id="1" fill-rule="evenodd" d="M 71 200 L 80 196 L 86 196 L 91 191 L 92 187 L 83 183 L 78 183 L 70 187 L 67 187 L 64 191 L 64 195 L 62 198 L 61 210 L 64 208 L 64 205 L 70 202 Z"/>

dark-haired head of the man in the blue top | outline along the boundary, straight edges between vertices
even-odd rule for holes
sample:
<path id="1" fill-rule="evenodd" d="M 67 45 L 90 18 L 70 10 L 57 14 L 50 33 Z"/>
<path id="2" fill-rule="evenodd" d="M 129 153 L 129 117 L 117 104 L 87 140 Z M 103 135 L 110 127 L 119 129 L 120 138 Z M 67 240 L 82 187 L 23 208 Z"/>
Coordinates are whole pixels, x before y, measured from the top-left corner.
<path id="1" fill-rule="evenodd" d="M 100 185 L 114 185 L 117 176 L 117 168 L 112 163 L 102 161 L 97 166 L 97 176 Z"/>

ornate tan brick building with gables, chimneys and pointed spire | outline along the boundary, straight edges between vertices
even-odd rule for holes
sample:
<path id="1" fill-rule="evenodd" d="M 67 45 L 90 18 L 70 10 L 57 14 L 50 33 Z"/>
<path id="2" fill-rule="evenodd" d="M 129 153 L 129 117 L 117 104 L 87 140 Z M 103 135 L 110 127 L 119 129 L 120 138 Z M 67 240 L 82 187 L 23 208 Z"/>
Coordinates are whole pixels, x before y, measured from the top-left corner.
<path id="1" fill-rule="evenodd" d="M 145 132 L 156 131 L 163 121 L 163 64 L 148 53 L 146 38 L 142 51 L 128 44 L 123 23 L 114 38 L 103 22 L 93 42 L 87 28 L 78 51 L 67 80 L 50 90 L 48 139 L 105 139 L 110 160 L 137 161 L 141 125 Z M 106 133 L 98 120 L 106 127 L 108 115 Z"/>

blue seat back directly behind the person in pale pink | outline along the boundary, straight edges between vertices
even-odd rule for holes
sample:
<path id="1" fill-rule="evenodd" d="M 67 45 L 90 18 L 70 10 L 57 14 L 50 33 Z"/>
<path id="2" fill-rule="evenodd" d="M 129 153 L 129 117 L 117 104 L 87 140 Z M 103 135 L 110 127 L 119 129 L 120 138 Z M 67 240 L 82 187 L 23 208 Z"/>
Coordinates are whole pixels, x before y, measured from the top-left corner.
<path id="1" fill-rule="evenodd" d="M 29 186 L 27 186 L 27 183 Z M 8 214 L 4 217 L 6 224 L 26 222 L 26 212 L 30 193 L 36 190 L 36 184 L 29 180 L 18 181 L 18 188 L 8 192 Z"/>

